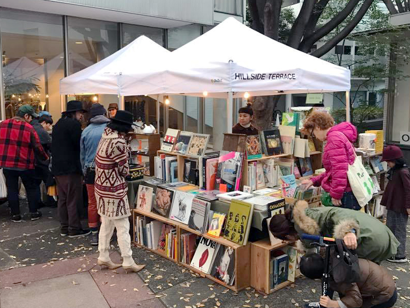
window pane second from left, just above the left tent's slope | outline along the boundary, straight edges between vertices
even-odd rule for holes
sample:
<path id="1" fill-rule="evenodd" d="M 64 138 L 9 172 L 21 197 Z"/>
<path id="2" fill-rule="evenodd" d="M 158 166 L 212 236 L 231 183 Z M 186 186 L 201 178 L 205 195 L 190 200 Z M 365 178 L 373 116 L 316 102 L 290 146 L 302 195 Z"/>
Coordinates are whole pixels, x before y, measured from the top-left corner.
<path id="1" fill-rule="evenodd" d="M 118 50 L 116 23 L 68 17 L 69 74 L 103 60 Z"/>

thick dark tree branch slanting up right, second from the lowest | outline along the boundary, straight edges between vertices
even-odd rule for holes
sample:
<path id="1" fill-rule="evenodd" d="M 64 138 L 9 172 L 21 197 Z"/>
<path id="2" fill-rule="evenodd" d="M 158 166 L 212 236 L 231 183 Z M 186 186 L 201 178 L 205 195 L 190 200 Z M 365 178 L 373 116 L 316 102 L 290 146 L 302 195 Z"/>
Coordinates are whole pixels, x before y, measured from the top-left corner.
<path id="1" fill-rule="evenodd" d="M 341 10 L 336 16 L 334 16 L 329 22 L 327 22 L 323 27 L 319 28 L 309 37 L 305 37 L 301 43 L 303 46 L 304 52 L 308 52 L 312 45 L 315 44 L 317 41 L 320 40 L 323 36 L 332 32 L 341 22 L 343 22 L 346 17 L 353 12 L 356 5 L 359 3 L 360 0 L 350 0 L 343 10 Z M 359 21 L 360 22 L 360 21 Z"/>

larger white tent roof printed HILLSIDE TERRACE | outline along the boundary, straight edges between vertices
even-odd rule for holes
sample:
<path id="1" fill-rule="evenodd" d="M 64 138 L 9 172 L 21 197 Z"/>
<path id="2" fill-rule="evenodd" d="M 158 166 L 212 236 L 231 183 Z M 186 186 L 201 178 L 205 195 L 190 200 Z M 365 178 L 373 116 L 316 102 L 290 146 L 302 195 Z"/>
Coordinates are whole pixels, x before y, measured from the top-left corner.
<path id="1" fill-rule="evenodd" d="M 245 91 L 255 96 L 350 90 L 348 69 L 272 40 L 233 17 L 170 57 L 168 93 L 227 97 L 232 89 L 239 97 Z"/>

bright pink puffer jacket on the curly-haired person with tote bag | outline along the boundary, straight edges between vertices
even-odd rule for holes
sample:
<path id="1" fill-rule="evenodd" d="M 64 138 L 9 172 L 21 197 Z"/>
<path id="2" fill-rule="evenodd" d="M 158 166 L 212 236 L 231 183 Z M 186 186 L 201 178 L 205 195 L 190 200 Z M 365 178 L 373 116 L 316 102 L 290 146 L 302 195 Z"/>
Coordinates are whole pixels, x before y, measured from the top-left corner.
<path id="1" fill-rule="evenodd" d="M 350 142 L 347 142 L 346 138 Z M 333 126 L 327 132 L 327 143 L 322 156 L 326 172 L 311 179 L 314 186 L 322 186 L 337 200 L 342 199 L 345 191 L 352 191 L 347 179 L 347 169 L 348 165 L 355 161 L 351 143 L 356 139 L 357 129 L 352 123 L 342 122 Z"/>

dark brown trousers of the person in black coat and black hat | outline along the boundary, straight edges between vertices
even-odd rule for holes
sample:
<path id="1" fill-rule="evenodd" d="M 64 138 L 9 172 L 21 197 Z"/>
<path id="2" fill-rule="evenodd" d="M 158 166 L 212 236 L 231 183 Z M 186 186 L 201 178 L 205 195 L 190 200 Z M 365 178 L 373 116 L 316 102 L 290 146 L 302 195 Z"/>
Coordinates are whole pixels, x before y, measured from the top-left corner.
<path id="1" fill-rule="evenodd" d="M 76 233 L 81 229 L 77 205 L 83 202 L 80 174 L 55 176 L 58 194 L 58 217 L 61 233 Z"/>

